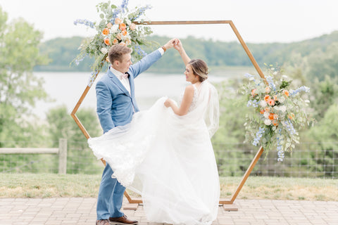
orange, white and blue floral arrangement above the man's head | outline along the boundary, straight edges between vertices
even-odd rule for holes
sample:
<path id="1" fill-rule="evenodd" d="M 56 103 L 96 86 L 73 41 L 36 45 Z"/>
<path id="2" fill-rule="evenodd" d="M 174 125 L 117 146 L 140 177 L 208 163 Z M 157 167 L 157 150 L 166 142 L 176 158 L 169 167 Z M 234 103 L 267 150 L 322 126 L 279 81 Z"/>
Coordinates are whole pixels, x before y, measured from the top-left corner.
<path id="1" fill-rule="evenodd" d="M 89 20 L 75 20 L 75 25 L 85 25 L 89 28 L 95 28 L 97 34 L 89 39 L 84 39 L 80 45 L 80 54 L 72 63 L 78 65 L 85 56 L 95 58 L 92 65 L 93 75 L 108 63 L 108 49 L 120 44 L 132 49 L 132 57 L 134 60 L 143 58 L 146 53 L 141 49 L 141 45 L 150 44 L 144 38 L 151 34 L 150 27 L 146 25 L 137 26 L 137 23 L 143 23 L 142 16 L 150 6 L 141 8 L 135 7 L 133 11 L 127 8 L 128 0 L 123 0 L 120 6 L 111 4 L 111 1 L 102 2 L 96 6 L 97 12 L 101 18 L 99 23 L 92 23 Z"/>

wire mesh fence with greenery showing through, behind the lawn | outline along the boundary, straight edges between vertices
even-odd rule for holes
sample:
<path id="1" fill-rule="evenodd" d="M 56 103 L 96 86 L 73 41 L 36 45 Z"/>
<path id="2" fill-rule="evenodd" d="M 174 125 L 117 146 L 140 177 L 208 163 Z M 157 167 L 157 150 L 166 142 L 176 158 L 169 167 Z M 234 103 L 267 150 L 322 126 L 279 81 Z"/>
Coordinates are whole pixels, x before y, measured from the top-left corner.
<path id="1" fill-rule="evenodd" d="M 29 141 L 0 141 L 2 146 L 30 146 Z M 40 143 L 41 144 L 41 143 Z M 326 143 L 327 144 L 327 143 Z M 43 147 L 55 147 L 58 141 L 44 143 Z M 318 143 L 301 143 L 293 153 L 286 153 L 283 162 L 277 162 L 277 153 L 263 153 L 251 175 L 306 178 L 338 178 L 338 148 L 321 150 Z M 327 146 L 327 145 L 326 145 Z M 329 143 L 328 146 L 338 146 Z M 31 146 L 30 146 L 31 147 Z M 243 176 L 258 148 L 247 148 L 242 143 L 213 143 L 220 176 Z M 104 165 L 97 160 L 87 141 L 68 140 L 67 174 L 101 174 Z M 58 173 L 58 155 L 0 153 L 2 173 Z"/>

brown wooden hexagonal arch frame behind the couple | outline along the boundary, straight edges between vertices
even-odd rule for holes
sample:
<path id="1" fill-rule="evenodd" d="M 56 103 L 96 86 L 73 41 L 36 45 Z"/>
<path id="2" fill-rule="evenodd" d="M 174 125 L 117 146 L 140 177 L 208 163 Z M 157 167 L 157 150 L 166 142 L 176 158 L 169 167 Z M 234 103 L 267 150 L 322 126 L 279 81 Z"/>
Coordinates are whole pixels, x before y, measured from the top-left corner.
<path id="1" fill-rule="evenodd" d="M 137 23 L 137 25 L 205 25 L 205 24 L 228 24 L 230 25 L 230 27 L 232 28 L 232 31 L 234 32 L 234 34 L 236 34 L 237 39 L 239 40 L 239 42 L 242 44 L 244 51 L 246 52 L 246 54 L 249 56 L 249 59 L 251 60 L 251 63 L 253 64 L 253 66 L 256 68 L 258 75 L 260 75 L 260 77 L 262 77 L 266 82 L 266 79 L 263 75 L 263 72 L 261 70 L 261 68 L 259 67 L 258 63 L 256 62 L 255 58 L 253 58 L 252 53 L 249 51 L 248 46 L 246 46 L 244 40 L 242 39 L 241 35 L 239 34 L 237 28 L 234 26 L 234 23 L 232 23 L 232 20 L 200 20 L 200 21 L 145 21 L 143 23 Z M 99 74 L 99 72 L 96 73 L 96 75 L 94 75 L 92 82 L 94 82 L 94 79 L 96 79 L 97 75 Z M 75 113 L 77 112 L 78 108 L 80 107 L 84 97 L 87 95 L 87 92 L 89 91 L 90 87 L 92 86 L 92 83 L 89 83 L 86 87 L 86 89 L 84 89 L 82 96 L 80 97 L 80 100 L 77 101 L 77 104 L 75 105 L 75 108 L 73 109 L 72 113 L 70 113 L 70 115 L 73 117 L 73 119 L 75 120 L 75 122 L 77 123 L 77 125 L 80 127 L 82 133 L 84 134 L 84 136 L 89 139 L 89 134 L 87 132 L 87 130 L 84 128 L 84 126 L 82 125 L 82 123 L 80 122 L 80 120 L 77 118 L 77 116 L 75 115 Z M 237 195 L 239 194 L 239 191 L 241 191 L 242 187 L 244 186 L 244 183 L 246 181 L 246 179 L 248 179 L 253 167 L 255 167 L 256 162 L 258 161 L 258 159 L 261 157 L 263 153 L 263 148 L 260 147 L 258 149 L 258 152 L 256 153 L 255 157 L 253 158 L 253 160 L 251 161 L 251 164 L 249 165 L 248 169 L 246 169 L 246 172 L 242 178 L 242 181 L 239 183 L 239 185 L 237 186 L 236 191 L 232 194 L 232 197 L 230 198 L 230 200 L 226 200 L 226 199 L 220 199 L 220 204 L 232 204 L 234 203 L 234 200 L 237 198 Z M 104 165 L 106 165 L 106 162 L 104 160 L 101 160 Z M 127 192 L 125 192 L 125 197 L 127 198 L 127 200 L 129 201 L 129 203 L 142 203 L 141 199 L 132 199 L 130 198 L 130 195 L 128 195 Z M 237 210 L 234 208 L 229 208 L 229 210 Z"/>

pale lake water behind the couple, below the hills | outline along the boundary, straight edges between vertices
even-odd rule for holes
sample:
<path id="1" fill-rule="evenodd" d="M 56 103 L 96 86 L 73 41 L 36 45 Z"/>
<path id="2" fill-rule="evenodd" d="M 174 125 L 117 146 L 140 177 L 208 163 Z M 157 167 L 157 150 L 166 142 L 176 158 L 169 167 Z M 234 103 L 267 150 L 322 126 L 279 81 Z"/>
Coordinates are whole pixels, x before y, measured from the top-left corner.
<path id="1" fill-rule="evenodd" d="M 233 74 L 244 75 L 244 71 L 236 71 Z M 88 84 L 90 72 L 35 72 L 37 77 L 44 79 L 44 89 L 50 98 L 54 101 L 38 101 L 33 113 L 44 120 L 49 109 L 59 105 L 65 105 L 68 112 L 71 113 L 77 101 L 79 101 L 84 89 Z M 96 81 L 101 78 L 104 73 L 100 73 L 96 77 Z M 222 82 L 230 76 L 229 73 L 223 75 L 210 75 L 210 82 Z M 156 99 L 161 96 L 168 96 L 178 100 L 180 94 L 184 91 L 184 87 L 189 84 L 185 81 L 185 75 L 180 74 L 154 74 L 144 72 L 142 75 L 134 79 L 135 96 L 140 110 L 149 108 Z M 87 96 L 82 102 L 81 108 L 93 108 L 96 110 L 95 84 L 89 89 Z"/>

